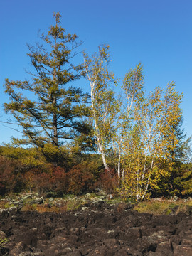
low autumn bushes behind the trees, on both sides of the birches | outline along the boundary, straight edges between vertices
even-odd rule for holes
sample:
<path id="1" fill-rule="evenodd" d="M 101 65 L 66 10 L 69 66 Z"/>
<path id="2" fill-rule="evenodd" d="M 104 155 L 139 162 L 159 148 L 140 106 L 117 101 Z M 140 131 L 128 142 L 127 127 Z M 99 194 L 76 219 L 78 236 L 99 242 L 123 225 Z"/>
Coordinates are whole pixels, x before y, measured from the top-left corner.
<path id="1" fill-rule="evenodd" d="M 55 167 L 46 161 L 45 156 L 36 148 L 1 147 L 0 195 L 23 191 L 36 192 L 40 196 L 64 196 L 67 193 L 81 195 L 94 193 L 98 188 L 106 193 L 117 193 L 121 184 L 113 156 L 107 159 L 110 166 L 108 172 L 100 155 L 88 154 L 80 157 L 74 152 L 70 153 L 72 152 L 61 149 L 63 163 L 60 162 L 60 165 Z M 160 175 L 158 181 L 155 175 L 151 176 L 152 185 L 148 191 L 150 196 L 192 196 L 192 164 L 176 162 L 171 171 L 165 171 L 167 175 Z M 119 196 L 127 198 L 130 195 L 120 193 Z"/>

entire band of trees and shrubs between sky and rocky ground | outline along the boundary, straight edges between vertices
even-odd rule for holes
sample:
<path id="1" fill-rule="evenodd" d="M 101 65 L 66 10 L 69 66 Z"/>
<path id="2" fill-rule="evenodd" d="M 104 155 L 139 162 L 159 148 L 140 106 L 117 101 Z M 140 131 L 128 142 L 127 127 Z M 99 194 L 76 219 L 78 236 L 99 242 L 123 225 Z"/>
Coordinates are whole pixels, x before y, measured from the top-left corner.
<path id="1" fill-rule="evenodd" d="M 74 64 L 82 42 L 65 33 L 59 13 L 53 17 L 43 43 L 28 45 L 31 80 L 6 79 L 4 85 L 9 124 L 23 138 L 1 146 L 1 193 L 104 188 L 137 201 L 191 195 L 190 138 L 181 129 L 182 95 L 174 82 L 146 95 L 141 63 L 116 80 L 107 45 Z M 90 94 L 74 86 L 80 78 Z"/>

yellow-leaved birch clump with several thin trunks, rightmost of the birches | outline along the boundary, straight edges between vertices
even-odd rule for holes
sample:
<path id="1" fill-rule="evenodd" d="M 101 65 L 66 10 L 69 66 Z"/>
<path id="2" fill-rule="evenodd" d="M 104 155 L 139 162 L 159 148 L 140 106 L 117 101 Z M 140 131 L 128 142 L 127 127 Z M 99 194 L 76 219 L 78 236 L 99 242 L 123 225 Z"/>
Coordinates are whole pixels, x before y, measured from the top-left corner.
<path id="1" fill-rule="evenodd" d="M 166 175 L 159 161 L 172 169 L 171 150 L 178 144 L 174 124 L 181 118 L 181 95 L 173 82 L 166 91 L 158 87 L 142 104 L 134 107 L 134 130 L 124 141 L 127 146 L 127 167 L 124 188 L 137 201 L 144 199 L 151 184 L 151 174 Z M 131 150 L 130 150 L 131 149 Z"/>

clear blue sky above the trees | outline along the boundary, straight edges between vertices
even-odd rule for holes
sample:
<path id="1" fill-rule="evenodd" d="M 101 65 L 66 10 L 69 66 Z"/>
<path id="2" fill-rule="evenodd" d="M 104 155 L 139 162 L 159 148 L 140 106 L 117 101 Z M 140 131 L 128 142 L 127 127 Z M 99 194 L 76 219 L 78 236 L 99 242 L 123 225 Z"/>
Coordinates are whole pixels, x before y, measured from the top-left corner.
<path id="1" fill-rule="evenodd" d="M 137 63 L 144 65 L 145 87 L 166 87 L 169 81 L 183 92 L 183 128 L 192 134 L 192 1 L 191 0 L 1 0 L 0 118 L 6 120 L 4 79 L 28 78 L 26 43 L 39 41 L 38 30 L 48 31 L 53 11 L 62 14 L 61 25 L 85 41 L 81 50 L 97 51 L 110 45 L 111 65 L 123 78 Z M 88 91 L 86 82 L 80 86 Z M 9 117 L 8 117 L 9 118 Z M 0 123 L 0 144 L 20 137 Z"/>

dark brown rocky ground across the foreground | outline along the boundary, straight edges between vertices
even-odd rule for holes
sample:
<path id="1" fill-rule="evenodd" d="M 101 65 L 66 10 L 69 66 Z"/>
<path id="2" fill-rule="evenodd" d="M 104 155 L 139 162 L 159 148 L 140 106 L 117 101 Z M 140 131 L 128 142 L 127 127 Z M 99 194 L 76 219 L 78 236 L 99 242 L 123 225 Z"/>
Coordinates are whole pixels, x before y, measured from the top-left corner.
<path id="1" fill-rule="evenodd" d="M 87 201 L 67 213 L 0 211 L 0 256 L 191 256 L 192 213 L 137 213 Z"/>

